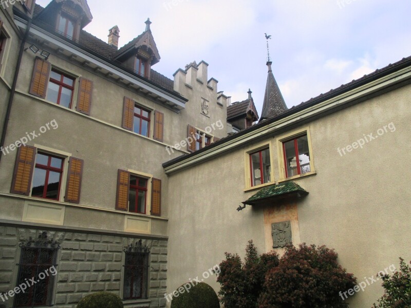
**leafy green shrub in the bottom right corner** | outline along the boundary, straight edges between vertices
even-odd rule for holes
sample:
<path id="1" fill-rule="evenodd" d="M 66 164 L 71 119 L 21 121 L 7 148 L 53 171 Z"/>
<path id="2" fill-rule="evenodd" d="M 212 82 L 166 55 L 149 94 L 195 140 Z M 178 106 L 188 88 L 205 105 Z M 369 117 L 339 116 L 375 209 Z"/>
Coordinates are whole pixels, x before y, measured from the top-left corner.
<path id="1" fill-rule="evenodd" d="M 410 262 L 411 263 L 411 262 Z M 379 308 L 407 308 L 411 307 L 411 268 L 400 258 L 400 272 L 395 272 L 392 277 L 379 275 L 382 278 L 384 295 L 378 300 Z"/>

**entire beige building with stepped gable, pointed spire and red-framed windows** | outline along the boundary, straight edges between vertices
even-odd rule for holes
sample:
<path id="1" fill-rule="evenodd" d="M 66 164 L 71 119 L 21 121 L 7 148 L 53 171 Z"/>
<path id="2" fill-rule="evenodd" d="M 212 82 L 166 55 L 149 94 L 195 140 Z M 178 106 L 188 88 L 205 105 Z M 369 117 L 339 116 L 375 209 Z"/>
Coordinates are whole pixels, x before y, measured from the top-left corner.
<path id="1" fill-rule="evenodd" d="M 203 274 L 250 239 L 325 244 L 358 281 L 411 258 L 410 58 L 288 110 L 267 63 L 253 125 L 208 63 L 153 69 L 150 20 L 119 48 L 83 30 L 85 0 L 0 9 L 0 305 L 170 306 L 196 277 L 218 291 Z"/>

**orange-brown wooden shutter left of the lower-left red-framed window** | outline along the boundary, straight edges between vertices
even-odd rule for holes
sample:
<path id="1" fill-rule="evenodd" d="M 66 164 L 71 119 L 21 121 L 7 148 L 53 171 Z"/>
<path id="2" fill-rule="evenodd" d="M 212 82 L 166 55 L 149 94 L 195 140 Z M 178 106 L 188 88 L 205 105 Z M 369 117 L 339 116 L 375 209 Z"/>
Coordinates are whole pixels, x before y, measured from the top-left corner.
<path id="1" fill-rule="evenodd" d="M 26 145 L 18 148 L 10 190 L 12 194 L 30 195 L 35 153 L 36 148 L 32 146 Z"/>

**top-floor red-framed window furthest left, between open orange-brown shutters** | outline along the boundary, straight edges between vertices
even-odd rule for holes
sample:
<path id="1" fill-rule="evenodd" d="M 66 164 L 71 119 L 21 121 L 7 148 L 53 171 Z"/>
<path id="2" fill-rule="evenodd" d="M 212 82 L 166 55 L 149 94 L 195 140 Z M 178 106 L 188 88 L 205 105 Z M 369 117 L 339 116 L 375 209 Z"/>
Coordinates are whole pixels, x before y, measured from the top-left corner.
<path id="1" fill-rule="evenodd" d="M 47 87 L 47 100 L 55 104 L 71 108 L 74 92 L 74 79 L 51 70 Z"/>

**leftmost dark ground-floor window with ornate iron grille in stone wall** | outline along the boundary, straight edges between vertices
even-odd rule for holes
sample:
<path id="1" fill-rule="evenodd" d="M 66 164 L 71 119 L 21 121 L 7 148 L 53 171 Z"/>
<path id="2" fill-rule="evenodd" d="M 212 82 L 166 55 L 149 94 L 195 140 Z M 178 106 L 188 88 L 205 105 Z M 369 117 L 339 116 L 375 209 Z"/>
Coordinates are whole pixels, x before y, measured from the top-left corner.
<path id="1" fill-rule="evenodd" d="M 33 307 L 51 305 L 53 277 L 57 274 L 55 261 L 59 245 L 47 240 L 43 232 L 35 241 L 21 243 L 22 252 L 18 264 L 16 287 L 27 284 L 33 279 L 36 283 L 28 284 L 23 293 L 16 293 L 13 307 Z"/>

